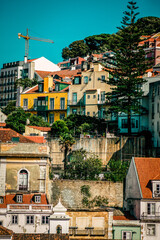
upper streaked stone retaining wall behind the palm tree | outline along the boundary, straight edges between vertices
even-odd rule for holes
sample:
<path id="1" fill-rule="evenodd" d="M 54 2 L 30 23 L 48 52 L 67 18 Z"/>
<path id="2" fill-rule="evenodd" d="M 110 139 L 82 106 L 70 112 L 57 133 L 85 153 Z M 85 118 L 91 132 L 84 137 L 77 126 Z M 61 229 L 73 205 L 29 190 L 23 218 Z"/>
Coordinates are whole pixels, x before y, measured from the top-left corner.
<path id="1" fill-rule="evenodd" d="M 50 156 L 53 164 L 63 164 L 64 153 L 61 151 L 58 139 L 49 142 Z M 114 157 L 131 160 L 133 156 L 145 156 L 145 139 L 143 137 L 111 137 L 111 138 L 80 138 L 72 146 L 72 150 L 85 149 L 92 152 L 106 165 Z"/>

